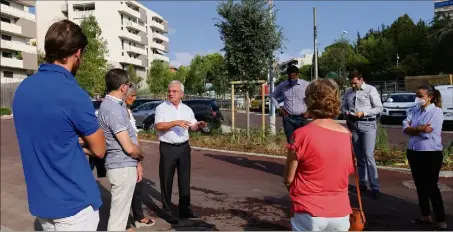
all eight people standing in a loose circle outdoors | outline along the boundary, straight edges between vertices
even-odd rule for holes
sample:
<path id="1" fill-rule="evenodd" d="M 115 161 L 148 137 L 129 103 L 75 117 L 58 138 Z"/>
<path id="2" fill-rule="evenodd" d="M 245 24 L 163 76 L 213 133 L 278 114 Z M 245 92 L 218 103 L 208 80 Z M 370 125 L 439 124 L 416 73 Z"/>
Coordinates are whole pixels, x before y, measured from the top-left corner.
<path id="1" fill-rule="evenodd" d="M 19 142 L 28 203 L 44 230 L 94 231 L 99 223 L 101 195 L 85 155 L 105 168 L 112 185 L 108 230 L 124 231 L 132 207 L 136 222 L 153 225 L 143 214 L 143 160 L 137 128 L 128 106 L 136 91 L 129 75 L 112 69 L 105 76 L 108 94 L 98 117 L 88 94 L 74 76 L 88 44 L 81 28 L 69 20 L 54 23 L 45 36 L 46 64 L 25 79 L 16 90 L 13 113 Z M 351 75 L 352 88 L 343 101 L 337 84 L 329 79 L 311 83 L 298 78 L 295 66 L 288 68 L 288 80 L 271 95 L 283 116 L 288 141 L 284 183 L 292 200 L 293 230 L 349 229 L 351 205 L 348 176 L 357 162 L 360 190 L 370 185 L 374 199 L 380 186 L 374 160 L 376 116 L 382 102 L 375 87 L 360 73 Z M 167 221 L 172 214 L 173 177 L 178 172 L 179 218 L 197 217 L 190 206 L 191 148 L 189 130 L 206 126 L 181 102 L 184 86 L 172 81 L 168 101 L 156 108 L 155 128 L 159 134 L 159 177 L 163 210 Z M 436 230 L 446 230 L 442 197 L 437 187 L 442 166 L 441 96 L 433 86 L 420 86 L 417 107 L 403 123 L 409 135 L 407 155 L 417 187 L 421 216 L 411 221 L 432 223 L 430 202 L 436 216 Z M 335 121 L 343 113 L 347 128 Z M 33 115 L 31 117 L 31 115 Z M 348 130 L 349 129 L 349 130 Z M 355 155 L 354 155 L 355 154 Z M 101 165 L 99 161 L 104 160 Z M 99 175 L 98 170 L 98 175 Z"/>

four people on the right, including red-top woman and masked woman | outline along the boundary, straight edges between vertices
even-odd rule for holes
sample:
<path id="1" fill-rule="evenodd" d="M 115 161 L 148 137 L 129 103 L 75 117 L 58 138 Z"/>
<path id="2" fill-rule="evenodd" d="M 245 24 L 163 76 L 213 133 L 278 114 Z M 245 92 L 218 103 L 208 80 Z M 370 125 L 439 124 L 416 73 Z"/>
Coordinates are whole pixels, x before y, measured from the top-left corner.
<path id="1" fill-rule="evenodd" d="M 360 192 L 368 191 L 369 185 L 371 196 L 376 200 L 380 196 L 374 148 L 377 116 L 383 109 L 381 97 L 357 71 L 351 73 L 351 88 L 342 100 L 333 80 L 309 83 L 298 79 L 298 73 L 297 67 L 289 67 L 288 80 L 271 94 L 274 105 L 278 105 L 278 99 L 284 101 L 277 110 L 283 116 L 288 140 L 284 183 L 292 200 L 291 225 L 293 230 L 302 231 L 347 231 L 352 213 L 348 183 L 354 168 L 358 170 Z M 432 85 L 420 86 L 416 96 L 416 107 L 403 121 L 403 133 L 409 136 L 407 158 L 421 216 L 408 223 L 432 224 L 431 202 L 434 230 L 447 230 L 437 187 L 443 160 L 442 99 Z M 335 121 L 340 114 L 346 117 L 347 127 Z"/>

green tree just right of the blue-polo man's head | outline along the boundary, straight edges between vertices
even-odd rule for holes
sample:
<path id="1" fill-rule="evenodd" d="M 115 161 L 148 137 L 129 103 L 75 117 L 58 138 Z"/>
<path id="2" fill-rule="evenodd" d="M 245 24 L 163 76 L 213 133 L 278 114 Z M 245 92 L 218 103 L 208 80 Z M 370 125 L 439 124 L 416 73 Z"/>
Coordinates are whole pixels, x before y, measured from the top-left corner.
<path id="1" fill-rule="evenodd" d="M 103 95 L 104 76 L 110 67 L 105 59 L 108 54 L 107 42 L 102 38 L 102 30 L 94 16 L 83 19 L 80 27 L 88 38 L 88 45 L 77 71 L 77 82 L 90 96 Z"/>

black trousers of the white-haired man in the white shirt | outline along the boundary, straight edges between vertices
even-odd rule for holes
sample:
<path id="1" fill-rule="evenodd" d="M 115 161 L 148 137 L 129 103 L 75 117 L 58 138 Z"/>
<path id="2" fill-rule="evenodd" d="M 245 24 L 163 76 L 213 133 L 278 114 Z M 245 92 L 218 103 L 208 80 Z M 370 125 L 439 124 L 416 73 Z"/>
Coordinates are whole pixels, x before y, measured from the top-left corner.
<path id="1" fill-rule="evenodd" d="M 161 142 L 159 150 L 159 178 L 163 211 L 171 215 L 173 177 L 175 170 L 178 170 L 179 214 L 187 214 L 190 210 L 190 145 L 187 142 L 180 145 Z"/>

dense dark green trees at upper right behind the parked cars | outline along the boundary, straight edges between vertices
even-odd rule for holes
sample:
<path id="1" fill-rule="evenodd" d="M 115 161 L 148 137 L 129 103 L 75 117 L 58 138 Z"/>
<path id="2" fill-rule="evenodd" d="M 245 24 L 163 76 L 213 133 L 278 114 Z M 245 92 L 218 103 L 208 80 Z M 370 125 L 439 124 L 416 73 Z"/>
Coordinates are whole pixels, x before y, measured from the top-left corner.
<path id="1" fill-rule="evenodd" d="M 363 37 L 357 33 L 352 45 L 343 38 L 336 40 L 319 58 L 320 76 L 345 82 L 353 69 L 360 70 L 367 80 L 453 73 L 451 18 L 439 15 L 431 24 L 422 20 L 414 23 L 405 14 L 390 26 L 370 29 Z"/>

